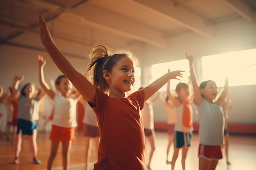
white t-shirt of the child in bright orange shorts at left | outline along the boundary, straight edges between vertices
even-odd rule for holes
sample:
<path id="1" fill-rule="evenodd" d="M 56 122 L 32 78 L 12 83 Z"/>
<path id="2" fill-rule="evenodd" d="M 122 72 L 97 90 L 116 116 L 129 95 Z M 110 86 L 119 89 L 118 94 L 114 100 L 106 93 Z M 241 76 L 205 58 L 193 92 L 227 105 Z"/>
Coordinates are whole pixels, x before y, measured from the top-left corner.
<path id="1" fill-rule="evenodd" d="M 65 128 L 76 127 L 76 104 L 78 100 L 55 94 L 53 102 L 54 115 L 52 124 Z"/>

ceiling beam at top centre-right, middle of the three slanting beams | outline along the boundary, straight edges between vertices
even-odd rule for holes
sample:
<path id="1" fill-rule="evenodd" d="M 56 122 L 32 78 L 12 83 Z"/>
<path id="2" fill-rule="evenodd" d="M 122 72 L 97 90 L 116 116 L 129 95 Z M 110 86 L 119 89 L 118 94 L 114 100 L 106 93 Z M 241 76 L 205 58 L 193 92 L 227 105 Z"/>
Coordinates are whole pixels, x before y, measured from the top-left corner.
<path id="1" fill-rule="evenodd" d="M 185 9 L 182 6 L 175 6 L 171 0 L 127 0 L 131 3 L 141 5 L 156 15 L 176 22 L 191 31 L 199 33 L 205 37 L 211 36 L 211 29 L 204 24 L 203 18 Z"/>

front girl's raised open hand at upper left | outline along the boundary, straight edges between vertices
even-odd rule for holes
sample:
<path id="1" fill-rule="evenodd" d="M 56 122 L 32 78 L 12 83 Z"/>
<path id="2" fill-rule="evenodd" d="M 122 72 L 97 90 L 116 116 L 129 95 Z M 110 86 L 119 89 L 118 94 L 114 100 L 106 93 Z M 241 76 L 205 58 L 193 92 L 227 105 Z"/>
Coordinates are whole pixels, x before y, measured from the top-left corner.
<path id="1" fill-rule="evenodd" d="M 45 23 L 45 20 L 43 19 L 42 15 L 39 15 L 39 28 L 40 28 L 40 38 L 43 45 L 47 46 L 49 45 L 49 42 L 53 42 L 52 35 L 50 34 L 47 24 Z"/>

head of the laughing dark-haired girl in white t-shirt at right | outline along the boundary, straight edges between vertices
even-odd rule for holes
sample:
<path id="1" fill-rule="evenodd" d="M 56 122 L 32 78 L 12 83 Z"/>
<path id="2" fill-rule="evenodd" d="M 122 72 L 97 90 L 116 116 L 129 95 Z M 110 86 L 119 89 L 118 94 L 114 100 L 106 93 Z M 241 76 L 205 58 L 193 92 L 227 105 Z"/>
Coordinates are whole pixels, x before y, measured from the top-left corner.
<path id="1" fill-rule="evenodd" d="M 204 95 L 204 98 L 209 101 L 213 102 L 213 100 L 217 97 L 217 85 L 213 81 L 208 81 L 204 88 L 200 89 L 201 94 Z"/>

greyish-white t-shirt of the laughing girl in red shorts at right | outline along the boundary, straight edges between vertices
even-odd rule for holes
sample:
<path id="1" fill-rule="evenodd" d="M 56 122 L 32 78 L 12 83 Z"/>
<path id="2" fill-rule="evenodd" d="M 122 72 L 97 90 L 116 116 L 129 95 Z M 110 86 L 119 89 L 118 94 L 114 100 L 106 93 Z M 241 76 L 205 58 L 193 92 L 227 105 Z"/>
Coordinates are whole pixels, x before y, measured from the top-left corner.
<path id="1" fill-rule="evenodd" d="M 219 146 L 224 144 L 224 114 L 219 103 L 210 103 L 202 99 L 196 105 L 199 116 L 199 141 L 200 144 Z"/>

